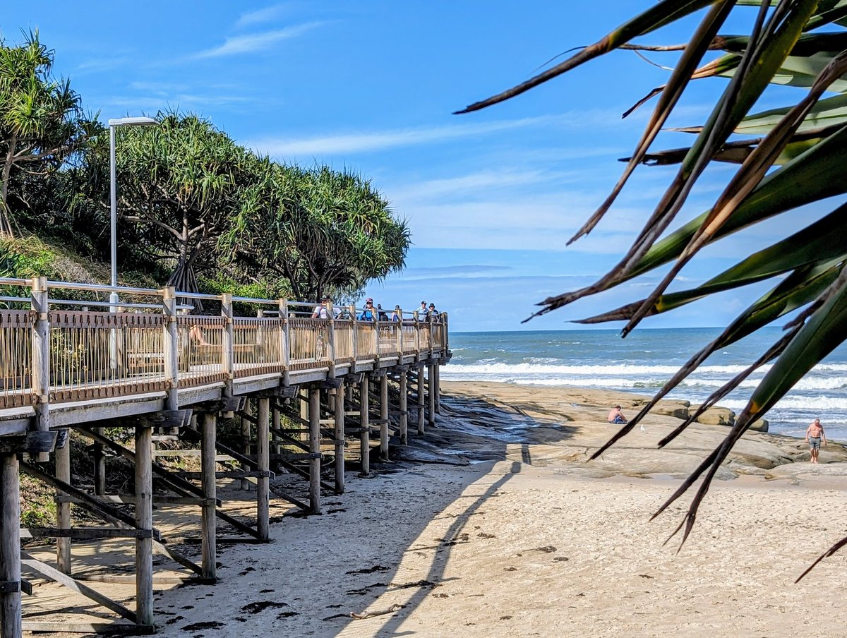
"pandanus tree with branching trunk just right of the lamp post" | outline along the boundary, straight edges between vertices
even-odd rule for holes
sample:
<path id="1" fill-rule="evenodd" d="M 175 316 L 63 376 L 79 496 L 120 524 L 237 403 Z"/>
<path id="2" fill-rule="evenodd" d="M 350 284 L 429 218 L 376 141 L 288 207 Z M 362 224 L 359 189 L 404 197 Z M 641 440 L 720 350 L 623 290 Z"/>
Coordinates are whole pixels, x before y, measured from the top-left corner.
<path id="1" fill-rule="evenodd" d="M 260 160 L 197 115 L 157 119 L 158 126 L 119 130 L 119 214 L 141 226 L 138 241 L 174 264 L 168 286 L 197 291 L 197 270 L 213 267 L 220 237 L 255 203 L 244 196 Z"/>

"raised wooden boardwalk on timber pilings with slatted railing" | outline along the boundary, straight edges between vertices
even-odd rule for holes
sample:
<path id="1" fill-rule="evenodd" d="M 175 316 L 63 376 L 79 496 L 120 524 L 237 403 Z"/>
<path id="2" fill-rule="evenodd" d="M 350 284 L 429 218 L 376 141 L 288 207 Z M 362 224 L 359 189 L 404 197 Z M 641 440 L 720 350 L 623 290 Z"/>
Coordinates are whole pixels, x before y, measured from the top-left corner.
<path id="1" fill-rule="evenodd" d="M 0 310 L 0 634 L 4 638 L 18 638 L 22 630 L 153 631 L 153 552 L 185 569 L 192 580 L 213 584 L 219 521 L 247 540 L 268 541 L 272 495 L 320 513 L 322 491 L 344 491 L 346 447 L 357 443 L 359 469 L 368 474 L 372 446 L 387 458 L 390 436 L 401 444 L 407 441 L 410 414 L 415 419 L 412 430 L 424 434 L 439 410 L 439 369 L 450 357 L 446 314 L 420 320 L 415 313 L 401 313 L 400 320 L 365 322 L 354 319 L 356 308 L 331 308 L 330 316 L 338 319 L 312 319 L 316 304 L 287 300 L 170 288 L 113 289 L 42 277 L 0 279 L 0 286 L 16 291 L 0 297 L 8 307 Z M 109 307 L 108 302 L 67 300 L 71 290 L 77 297 L 84 293 L 91 298 L 118 292 L 121 301 Z M 219 314 L 191 314 L 198 301 L 207 310 L 219 308 Z M 247 313 L 252 316 L 240 316 Z M 281 414 L 292 401 L 301 409 L 299 417 L 287 419 L 289 425 L 294 419 L 296 427 L 286 428 Z M 322 419 L 322 413 L 329 419 Z M 221 417 L 241 423 L 240 450 L 217 440 Z M 106 427 L 134 432 L 135 446 L 108 438 Z M 92 491 L 71 485 L 69 430 L 79 430 L 93 441 Z M 196 444 L 197 450 L 171 453 L 195 454 L 200 471 L 164 469 L 156 461 L 169 452 L 158 452 L 158 441 Z M 131 463 L 133 493 L 105 493 L 104 454 Z M 222 471 L 222 459 L 240 468 Z M 49 460 L 54 460 L 54 470 L 45 463 Z M 307 499 L 270 485 L 271 460 L 308 480 Z M 333 469 L 332 484 L 323 480 L 322 461 Z M 21 472 L 56 490 L 55 527 L 20 529 Z M 155 493 L 154 477 L 159 488 Z M 255 526 L 221 507 L 216 480 L 233 478 L 254 485 Z M 163 543 L 152 517 L 154 502 L 200 508 L 199 564 Z M 104 524 L 74 525 L 71 503 Z M 125 504 L 134 506 L 133 515 L 119 507 Z M 21 553 L 21 536 L 55 538 L 56 562 Z M 103 538 L 135 544 L 134 609 L 70 575 L 71 543 Z M 90 598 L 122 620 L 22 622 L 21 596 L 30 585 L 21 569 Z"/>

